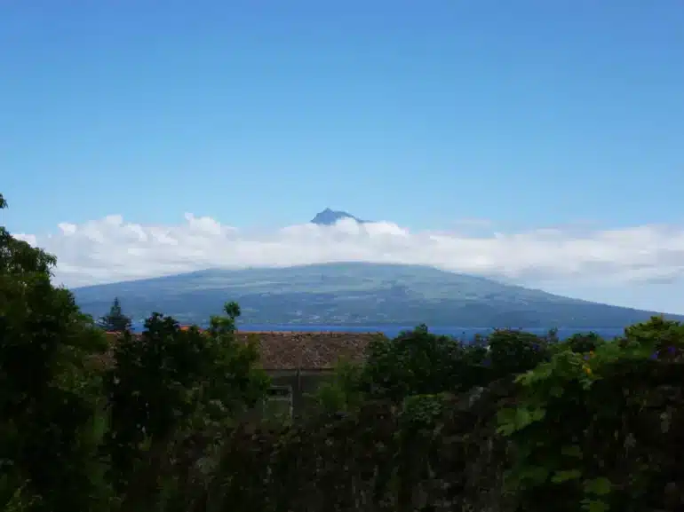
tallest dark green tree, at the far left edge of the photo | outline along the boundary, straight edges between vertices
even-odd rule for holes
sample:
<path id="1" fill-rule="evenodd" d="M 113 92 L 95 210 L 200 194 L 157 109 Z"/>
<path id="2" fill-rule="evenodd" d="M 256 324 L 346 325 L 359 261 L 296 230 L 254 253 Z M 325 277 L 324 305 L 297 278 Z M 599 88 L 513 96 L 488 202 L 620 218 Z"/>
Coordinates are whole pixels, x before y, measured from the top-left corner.
<path id="1" fill-rule="evenodd" d="M 55 263 L 0 226 L 2 509 L 92 510 L 102 497 L 100 389 L 88 363 L 104 336 L 52 286 Z"/>

